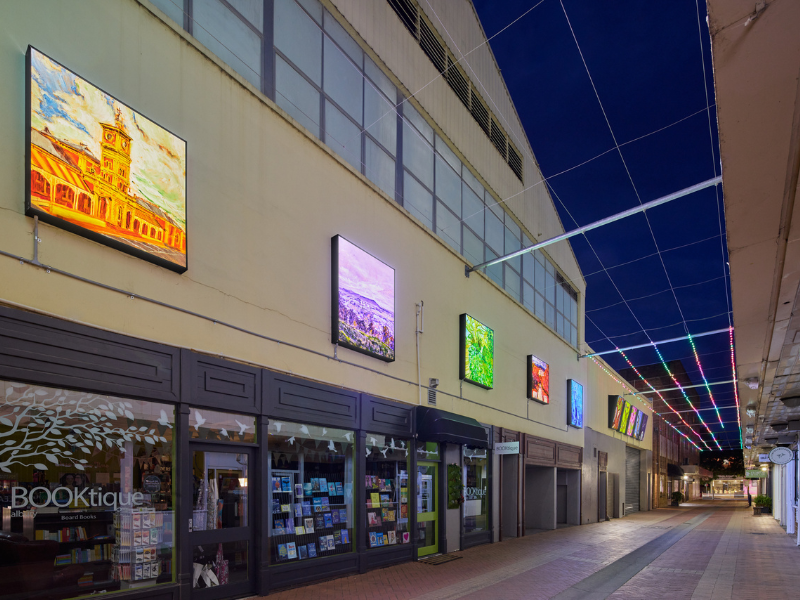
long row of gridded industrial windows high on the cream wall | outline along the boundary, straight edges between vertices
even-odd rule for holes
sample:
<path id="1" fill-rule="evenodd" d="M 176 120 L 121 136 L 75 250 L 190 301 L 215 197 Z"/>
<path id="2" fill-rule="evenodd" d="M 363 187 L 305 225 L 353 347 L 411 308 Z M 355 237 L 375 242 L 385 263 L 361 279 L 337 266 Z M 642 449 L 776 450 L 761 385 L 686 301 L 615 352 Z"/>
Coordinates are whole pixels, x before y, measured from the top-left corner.
<path id="1" fill-rule="evenodd" d="M 472 264 L 532 244 L 318 0 L 154 3 Z M 543 253 L 486 272 L 577 346 L 577 292 Z"/>

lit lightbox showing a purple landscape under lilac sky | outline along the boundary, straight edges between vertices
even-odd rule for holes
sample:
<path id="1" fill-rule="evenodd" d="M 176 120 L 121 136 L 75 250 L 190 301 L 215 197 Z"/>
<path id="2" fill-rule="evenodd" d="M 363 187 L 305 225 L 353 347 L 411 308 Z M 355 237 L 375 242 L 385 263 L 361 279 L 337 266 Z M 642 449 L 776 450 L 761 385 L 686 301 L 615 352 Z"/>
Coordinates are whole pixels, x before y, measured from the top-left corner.
<path id="1" fill-rule="evenodd" d="M 340 235 L 331 238 L 331 341 L 394 360 L 394 269 Z"/>

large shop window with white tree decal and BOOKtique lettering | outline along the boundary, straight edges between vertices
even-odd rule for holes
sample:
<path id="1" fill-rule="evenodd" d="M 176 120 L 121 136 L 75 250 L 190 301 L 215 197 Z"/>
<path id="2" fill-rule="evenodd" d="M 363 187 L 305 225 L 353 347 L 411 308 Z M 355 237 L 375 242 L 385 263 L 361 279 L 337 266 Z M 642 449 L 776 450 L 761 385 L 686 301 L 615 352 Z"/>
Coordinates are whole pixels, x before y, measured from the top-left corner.
<path id="1" fill-rule="evenodd" d="M 0 381 L 0 597 L 174 581 L 174 409 Z"/>

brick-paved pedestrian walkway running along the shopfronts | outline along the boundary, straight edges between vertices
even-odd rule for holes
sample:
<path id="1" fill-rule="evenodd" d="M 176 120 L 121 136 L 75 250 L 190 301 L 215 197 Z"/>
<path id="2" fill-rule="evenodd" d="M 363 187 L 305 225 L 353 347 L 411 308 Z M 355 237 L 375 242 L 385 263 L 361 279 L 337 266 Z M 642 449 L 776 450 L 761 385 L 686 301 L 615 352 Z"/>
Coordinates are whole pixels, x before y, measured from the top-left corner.
<path id="1" fill-rule="evenodd" d="M 800 548 L 745 502 L 698 501 L 547 531 L 269 596 L 270 600 L 780 600 L 800 597 Z M 312 563 L 309 563 L 309 568 Z"/>

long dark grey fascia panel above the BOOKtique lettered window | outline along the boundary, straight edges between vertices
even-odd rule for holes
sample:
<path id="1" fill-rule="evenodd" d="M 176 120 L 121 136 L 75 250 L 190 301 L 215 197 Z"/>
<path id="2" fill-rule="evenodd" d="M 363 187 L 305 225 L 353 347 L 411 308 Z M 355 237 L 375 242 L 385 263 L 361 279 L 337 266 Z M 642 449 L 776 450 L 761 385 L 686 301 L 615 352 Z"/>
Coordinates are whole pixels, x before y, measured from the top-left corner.
<path id="1" fill-rule="evenodd" d="M 0 377 L 177 402 L 180 351 L 0 307 Z"/>

